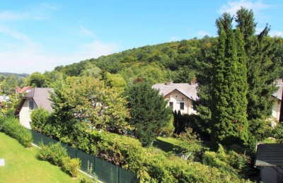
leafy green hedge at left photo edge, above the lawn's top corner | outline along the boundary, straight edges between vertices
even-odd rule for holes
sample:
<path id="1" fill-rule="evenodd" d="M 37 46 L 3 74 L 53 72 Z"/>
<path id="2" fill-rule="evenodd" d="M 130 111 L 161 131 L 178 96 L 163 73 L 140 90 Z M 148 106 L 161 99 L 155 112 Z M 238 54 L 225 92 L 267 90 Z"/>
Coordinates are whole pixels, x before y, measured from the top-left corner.
<path id="1" fill-rule="evenodd" d="M 25 147 L 30 147 L 33 142 L 31 132 L 22 126 L 16 118 L 0 117 L 0 129 L 8 136 L 16 138 Z"/>

